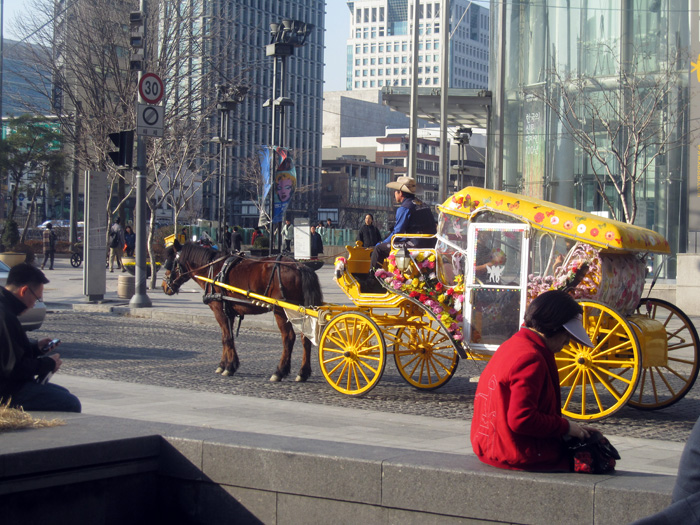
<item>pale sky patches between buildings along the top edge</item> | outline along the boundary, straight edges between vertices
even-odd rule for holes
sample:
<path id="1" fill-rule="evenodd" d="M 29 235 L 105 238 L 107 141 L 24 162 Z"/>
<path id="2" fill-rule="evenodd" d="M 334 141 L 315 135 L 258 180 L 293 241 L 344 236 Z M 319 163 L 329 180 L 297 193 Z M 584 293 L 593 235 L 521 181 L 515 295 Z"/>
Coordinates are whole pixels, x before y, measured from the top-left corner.
<path id="1" fill-rule="evenodd" d="M 26 9 L 27 0 L 4 0 L 5 38 L 16 38 L 11 28 L 15 16 Z M 326 0 L 324 91 L 345 90 L 346 44 L 350 32 L 350 11 L 346 0 Z"/>

